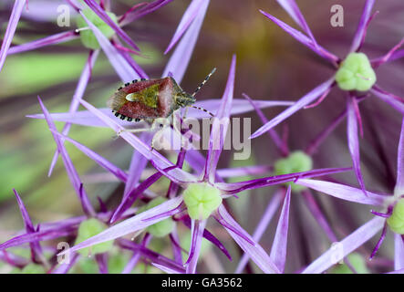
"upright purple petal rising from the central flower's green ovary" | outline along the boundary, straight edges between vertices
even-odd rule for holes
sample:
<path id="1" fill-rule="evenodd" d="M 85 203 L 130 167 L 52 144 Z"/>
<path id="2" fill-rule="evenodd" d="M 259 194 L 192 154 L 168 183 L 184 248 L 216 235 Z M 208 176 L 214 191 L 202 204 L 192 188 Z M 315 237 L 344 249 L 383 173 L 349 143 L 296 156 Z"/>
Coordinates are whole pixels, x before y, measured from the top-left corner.
<path id="1" fill-rule="evenodd" d="M 232 109 L 234 78 L 235 78 L 235 55 L 232 58 L 232 64 L 227 78 L 226 88 L 224 89 L 222 103 L 213 118 L 211 137 L 209 140 L 209 150 L 206 158 L 205 179 L 209 177 L 209 181 L 214 183 L 217 163 L 223 150 L 223 143 L 226 137 L 227 127 Z"/>

